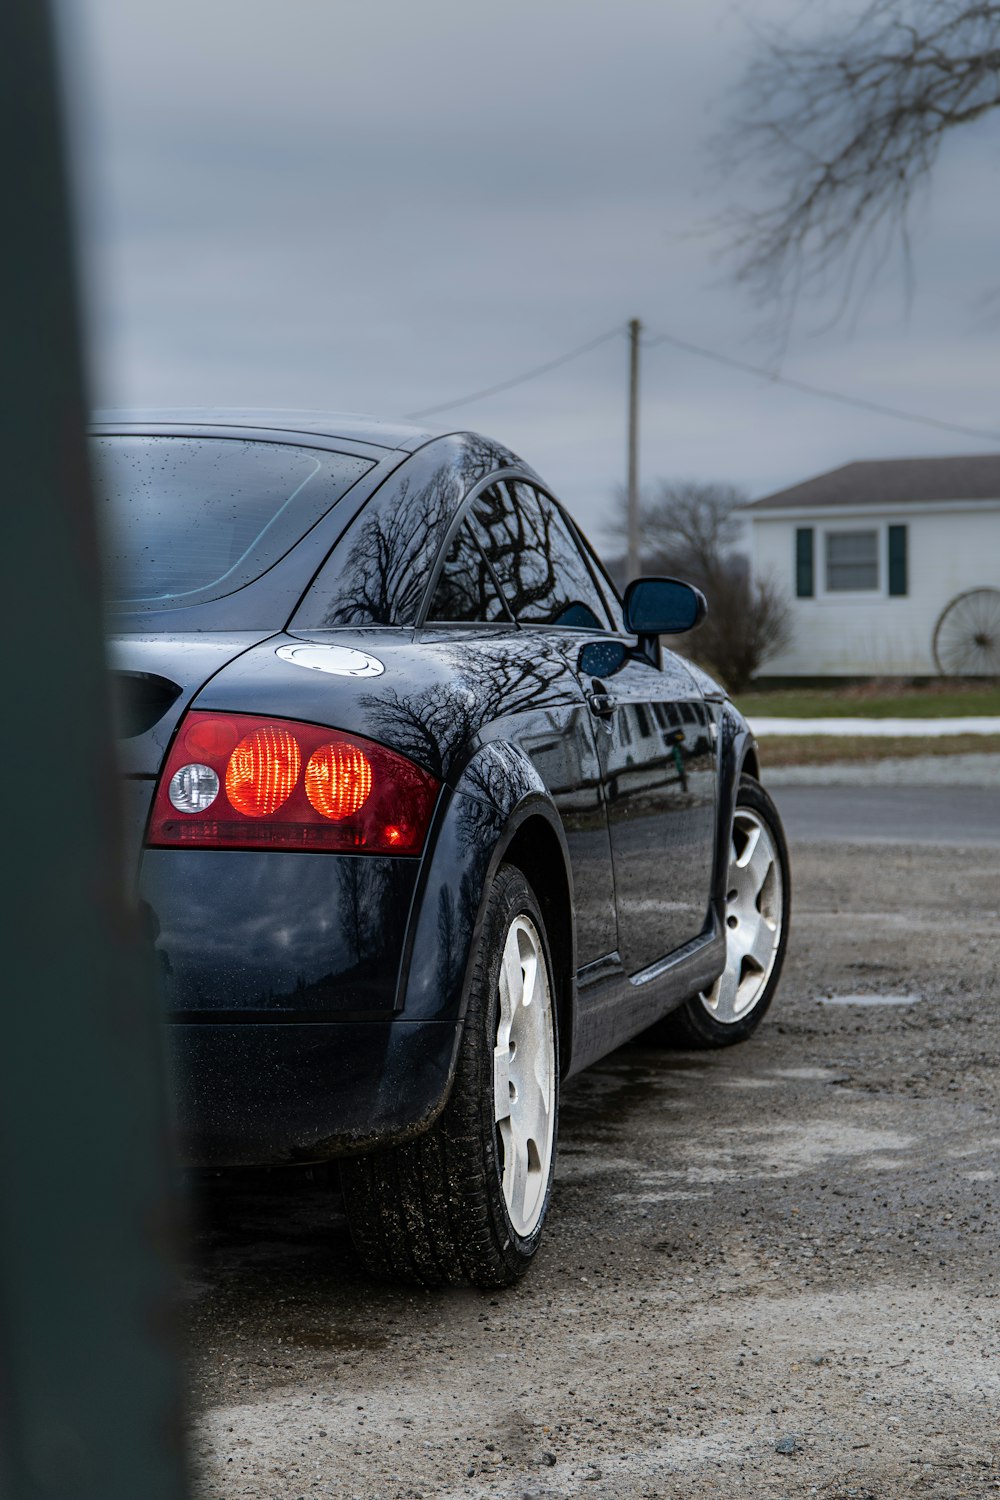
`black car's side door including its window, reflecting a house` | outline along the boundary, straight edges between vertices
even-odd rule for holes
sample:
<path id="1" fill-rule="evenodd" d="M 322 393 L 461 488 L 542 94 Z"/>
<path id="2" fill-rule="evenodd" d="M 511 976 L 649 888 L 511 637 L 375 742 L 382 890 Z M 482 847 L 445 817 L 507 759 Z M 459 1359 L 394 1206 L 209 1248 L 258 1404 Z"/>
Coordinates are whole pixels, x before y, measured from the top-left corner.
<path id="1" fill-rule="evenodd" d="M 715 748 L 706 706 L 679 657 L 651 662 L 624 634 L 621 615 L 609 615 L 610 582 L 544 492 L 520 480 L 496 484 L 472 514 L 514 618 L 537 633 L 538 650 L 564 654 L 589 705 L 618 951 L 625 970 L 639 974 L 708 922 Z"/>

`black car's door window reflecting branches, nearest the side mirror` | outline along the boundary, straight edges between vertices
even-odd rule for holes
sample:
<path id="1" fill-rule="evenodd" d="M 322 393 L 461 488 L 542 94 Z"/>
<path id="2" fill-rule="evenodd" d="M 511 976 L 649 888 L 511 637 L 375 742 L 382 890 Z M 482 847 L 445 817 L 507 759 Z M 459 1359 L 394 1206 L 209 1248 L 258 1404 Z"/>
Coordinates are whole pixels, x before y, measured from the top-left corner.
<path id="1" fill-rule="evenodd" d="M 520 480 L 472 502 L 472 526 L 519 624 L 607 630 L 576 538 L 552 501 Z"/>

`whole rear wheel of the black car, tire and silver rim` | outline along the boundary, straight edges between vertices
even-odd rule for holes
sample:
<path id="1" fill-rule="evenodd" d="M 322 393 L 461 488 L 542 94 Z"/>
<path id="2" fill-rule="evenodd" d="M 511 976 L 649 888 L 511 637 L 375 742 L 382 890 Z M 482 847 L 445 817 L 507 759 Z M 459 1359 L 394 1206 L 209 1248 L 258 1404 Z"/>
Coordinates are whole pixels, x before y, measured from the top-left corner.
<path id="1" fill-rule="evenodd" d="M 342 1162 L 364 1268 L 424 1286 L 516 1281 L 538 1248 L 549 1208 L 558 1092 L 544 921 L 520 870 L 502 866 L 444 1113 L 418 1140 Z"/>

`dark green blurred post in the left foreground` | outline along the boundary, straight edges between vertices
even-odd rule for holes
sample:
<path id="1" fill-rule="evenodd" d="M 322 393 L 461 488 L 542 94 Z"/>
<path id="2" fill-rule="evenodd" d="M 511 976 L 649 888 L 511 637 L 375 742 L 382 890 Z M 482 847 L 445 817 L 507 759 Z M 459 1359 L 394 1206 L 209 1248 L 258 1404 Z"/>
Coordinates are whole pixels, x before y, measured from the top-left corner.
<path id="1" fill-rule="evenodd" d="M 0 1497 L 184 1492 L 154 1004 L 120 873 L 45 0 L 0 3 Z"/>

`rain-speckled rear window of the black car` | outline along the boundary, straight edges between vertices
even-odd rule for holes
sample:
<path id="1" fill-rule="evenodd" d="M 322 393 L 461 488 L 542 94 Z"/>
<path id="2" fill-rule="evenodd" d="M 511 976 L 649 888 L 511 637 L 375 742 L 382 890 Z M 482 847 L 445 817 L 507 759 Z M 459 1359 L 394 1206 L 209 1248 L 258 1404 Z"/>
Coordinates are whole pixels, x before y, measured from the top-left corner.
<path id="1" fill-rule="evenodd" d="M 112 604 L 177 609 L 259 578 L 372 465 L 240 438 L 96 438 Z"/>

